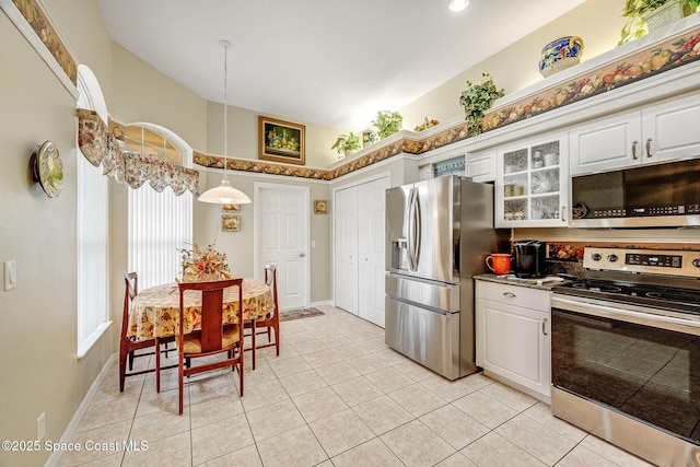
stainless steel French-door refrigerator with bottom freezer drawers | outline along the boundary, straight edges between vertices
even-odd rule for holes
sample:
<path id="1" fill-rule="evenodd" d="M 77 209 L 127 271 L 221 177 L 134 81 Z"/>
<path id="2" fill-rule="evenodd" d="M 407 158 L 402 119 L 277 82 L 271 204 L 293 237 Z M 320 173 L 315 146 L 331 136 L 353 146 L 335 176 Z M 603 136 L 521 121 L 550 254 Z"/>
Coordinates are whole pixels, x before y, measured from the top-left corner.
<path id="1" fill-rule="evenodd" d="M 472 277 L 508 241 L 492 185 L 453 175 L 387 189 L 386 343 L 448 380 L 476 372 Z"/>

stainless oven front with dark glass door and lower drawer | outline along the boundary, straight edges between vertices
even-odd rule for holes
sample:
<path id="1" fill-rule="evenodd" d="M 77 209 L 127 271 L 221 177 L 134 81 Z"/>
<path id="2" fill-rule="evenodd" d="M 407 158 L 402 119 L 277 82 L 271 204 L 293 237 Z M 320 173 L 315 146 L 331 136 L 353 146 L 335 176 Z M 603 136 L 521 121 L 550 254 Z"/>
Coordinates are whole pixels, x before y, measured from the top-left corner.
<path id="1" fill-rule="evenodd" d="M 695 315 L 658 313 L 555 293 L 552 411 L 558 415 L 556 405 L 561 399 L 553 395 L 558 389 L 564 398 L 575 396 L 690 443 L 684 456 L 695 456 L 700 452 L 700 323 Z M 615 442 L 615 433 L 609 433 L 612 423 L 606 417 L 598 422 L 573 422 Z M 628 437 L 635 435 L 628 433 Z"/>

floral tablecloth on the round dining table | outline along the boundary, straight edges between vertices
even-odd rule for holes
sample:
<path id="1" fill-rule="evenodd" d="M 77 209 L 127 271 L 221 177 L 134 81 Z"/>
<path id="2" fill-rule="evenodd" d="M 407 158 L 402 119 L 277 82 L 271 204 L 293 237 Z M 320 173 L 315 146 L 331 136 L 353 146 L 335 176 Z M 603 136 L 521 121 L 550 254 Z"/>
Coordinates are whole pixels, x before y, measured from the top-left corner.
<path id="1" fill-rule="evenodd" d="M 224 289 L 224 316 L 226 324 L 235 324 L 238 311 L 238 289 Z M 264 282 L 255 279 L 243 280 L 243 318 L 257 319 L 275 306 L 272 292 Z M 177 334 L 179 314 L 179 291 L 175 282 L 144 289 L 131 302 L 129 313 L 129 336 L 139 340 L 167 337 Z M 201 324 L 201 294 L 185 293 L 185 334 Z"/>

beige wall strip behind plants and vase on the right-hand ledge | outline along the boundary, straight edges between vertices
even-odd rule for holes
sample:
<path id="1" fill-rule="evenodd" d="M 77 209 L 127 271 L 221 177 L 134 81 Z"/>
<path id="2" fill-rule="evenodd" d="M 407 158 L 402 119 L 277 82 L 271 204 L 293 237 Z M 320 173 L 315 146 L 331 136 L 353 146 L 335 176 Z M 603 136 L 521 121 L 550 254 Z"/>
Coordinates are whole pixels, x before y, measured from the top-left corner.
<path id="1" fill-rule="evenodd" d="M 420 125 L 424 117 L 443 121 L 464 116 L 459 96 L 466 90 L 465 82 L 480 83 L 483 72 L 491 73 L 495 85 L 503 87 L 506 95 L 541 81 L 538 68 L 541 49 L 559 37 L 575 35 L 583 38 L 582 61 L 615 48 L 625 24 L 621 16 L 623 3 L 623 0 L 585 1 L 568 14 L 406 105 L 400 109 L 404 128 Z"/>

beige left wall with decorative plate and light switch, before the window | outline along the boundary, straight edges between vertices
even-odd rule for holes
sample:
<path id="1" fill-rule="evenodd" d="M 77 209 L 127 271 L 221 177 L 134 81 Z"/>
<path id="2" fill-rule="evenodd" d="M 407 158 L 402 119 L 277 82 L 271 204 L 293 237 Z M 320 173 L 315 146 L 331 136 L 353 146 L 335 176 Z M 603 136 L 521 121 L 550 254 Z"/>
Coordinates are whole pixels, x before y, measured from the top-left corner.
<path id="1" fill-rule="evenodd" d="M 35 440 L 36 419 L 46 412 L 47 439 L 59 440 L 84 395 L 75 359 L 75 101 L 4 13 L 0 50 L 12 63 L 0 73 L 0 261 L 18 265 L 16 289 L 0 290 L 0 439 Z M 63 163 L 55 199 L 28 167 L 46 140 Z M 40 466 L 47 458 L 0 451 L 0 465 Z"/>

